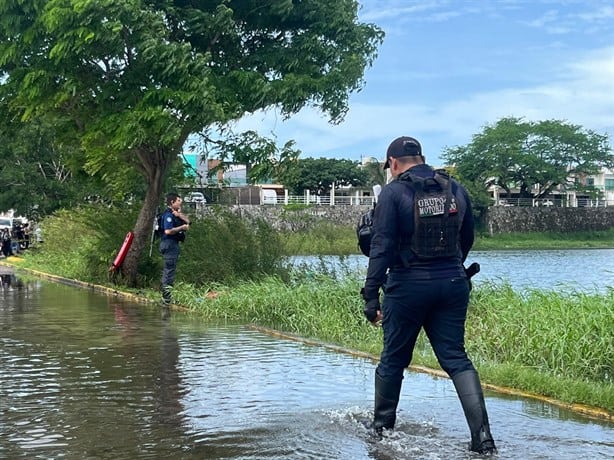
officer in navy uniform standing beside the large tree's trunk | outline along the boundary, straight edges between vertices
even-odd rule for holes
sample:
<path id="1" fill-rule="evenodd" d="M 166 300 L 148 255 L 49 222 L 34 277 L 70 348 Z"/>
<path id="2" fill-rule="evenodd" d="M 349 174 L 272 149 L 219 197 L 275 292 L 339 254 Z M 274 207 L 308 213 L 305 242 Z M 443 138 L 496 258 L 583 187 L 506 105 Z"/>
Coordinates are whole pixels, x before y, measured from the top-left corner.
<path id="1" fill-rule="evenodd" d="M 190 220 L 181 212 L 181 198 L 176 193 L 166 195 L 167 208 L 162 214 L 162 234 L 160 254 L 164 259 L 162 269 L 162 303 L 171 303 L 171 290 L 175 282 L 175 271 L 179 259 L 179 243 L 185 240 L 185 232 L 190 228 Z"/>

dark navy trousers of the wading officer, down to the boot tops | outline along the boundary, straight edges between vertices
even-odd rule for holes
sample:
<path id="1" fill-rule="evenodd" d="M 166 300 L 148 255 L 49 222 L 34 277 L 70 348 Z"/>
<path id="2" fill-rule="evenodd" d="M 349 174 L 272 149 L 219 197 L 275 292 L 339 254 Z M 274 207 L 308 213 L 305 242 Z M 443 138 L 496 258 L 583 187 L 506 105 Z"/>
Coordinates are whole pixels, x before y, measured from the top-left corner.
<path id="1" fill-rule="evenodd" d="M 384 347 L 377 373 L 392 381 L 403 378 L 421 328 L 450 377 L 474 370 L 465 352 L 468 302 L 465 278 L 418 281 L 404 273 L 390 273 L 382 305 Z"/>

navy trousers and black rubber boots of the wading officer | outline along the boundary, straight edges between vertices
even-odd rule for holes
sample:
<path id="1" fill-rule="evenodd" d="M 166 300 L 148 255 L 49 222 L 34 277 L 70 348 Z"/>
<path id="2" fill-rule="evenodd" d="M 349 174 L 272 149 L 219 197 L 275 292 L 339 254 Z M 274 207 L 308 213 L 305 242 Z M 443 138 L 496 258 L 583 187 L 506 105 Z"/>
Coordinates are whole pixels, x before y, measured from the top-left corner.
<path id="1" fill-rule="evenodd" d="M 469 284 L 465 278 L 413 280 L 388 275 L 382 305 L 384 348 L 375 375 L 373 426 L 393 428 L 404 369 L 421 328 L 444 371 L 452 378 L 471 431 L 471 450 L 488 452 L 494 442 L 479 377 L 464 346 Z"/>

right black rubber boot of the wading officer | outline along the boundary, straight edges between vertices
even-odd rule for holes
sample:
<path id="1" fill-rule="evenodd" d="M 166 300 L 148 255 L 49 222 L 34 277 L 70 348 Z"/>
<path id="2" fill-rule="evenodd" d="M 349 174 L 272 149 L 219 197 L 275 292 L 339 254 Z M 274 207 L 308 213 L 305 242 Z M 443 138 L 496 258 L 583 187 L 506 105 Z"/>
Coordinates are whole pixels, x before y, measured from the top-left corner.
<path id="1" fill-rule="evenodd" d="M 471 431 L 469 450 L 480 454 L 497 453 L 495 441 L 490 434 L 488 413 L 478 373 L 475 370 L 464 371 L 452 377 L 452 381 Z"/>

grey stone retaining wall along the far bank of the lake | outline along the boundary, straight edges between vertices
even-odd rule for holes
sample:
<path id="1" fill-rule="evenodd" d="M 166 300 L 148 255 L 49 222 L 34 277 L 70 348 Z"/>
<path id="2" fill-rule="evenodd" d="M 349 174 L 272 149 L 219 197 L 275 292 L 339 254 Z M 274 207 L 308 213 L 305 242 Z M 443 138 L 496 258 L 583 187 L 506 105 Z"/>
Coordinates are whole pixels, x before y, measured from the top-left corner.
<path id="1" fill-rule="evenodd" d="M 312 206 L 289 211 L 277 206 L 234 206 L 245 217 L 264 218 L 278 230 L 298 231 L 318 221 L 354 227 L 370 206 Z M 614 206 L 606 208 L 541 208 L 494 206 L 484 217 L 491 234 L 511 232 L 560 232 L 614 228 Z"/>

